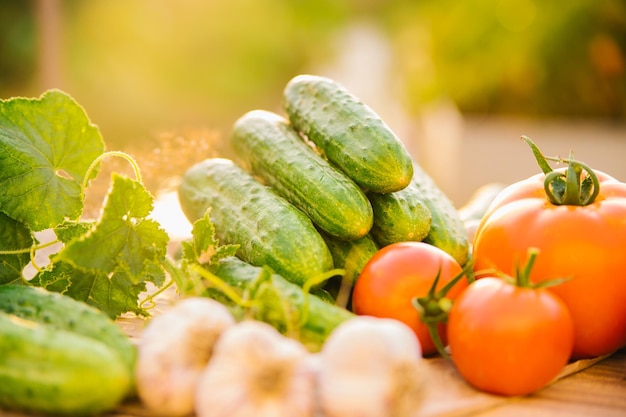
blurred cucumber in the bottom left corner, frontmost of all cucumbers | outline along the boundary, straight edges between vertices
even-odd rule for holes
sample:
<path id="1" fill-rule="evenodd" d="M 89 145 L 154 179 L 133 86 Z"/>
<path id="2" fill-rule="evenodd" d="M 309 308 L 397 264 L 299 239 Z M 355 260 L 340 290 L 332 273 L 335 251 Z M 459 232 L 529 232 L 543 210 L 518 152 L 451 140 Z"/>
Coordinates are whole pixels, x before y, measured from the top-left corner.
<path id="1" fill-rule="evenodd" d="M 104 343 L 0 312 L 0 408 L 95 415 L 121 403 L 129 384 Z"/>

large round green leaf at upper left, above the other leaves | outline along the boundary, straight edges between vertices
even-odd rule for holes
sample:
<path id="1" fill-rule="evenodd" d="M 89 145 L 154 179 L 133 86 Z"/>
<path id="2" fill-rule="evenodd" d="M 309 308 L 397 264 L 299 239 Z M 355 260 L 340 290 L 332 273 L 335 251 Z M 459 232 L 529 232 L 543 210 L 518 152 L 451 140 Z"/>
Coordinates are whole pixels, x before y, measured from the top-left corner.
<path id="1" fill-rule="evenodd" d="M 82 182 L 104 150 L 98 127 L 61 91 L 0 100 L 0 210 L 33 231 L 77 219 Z"/>

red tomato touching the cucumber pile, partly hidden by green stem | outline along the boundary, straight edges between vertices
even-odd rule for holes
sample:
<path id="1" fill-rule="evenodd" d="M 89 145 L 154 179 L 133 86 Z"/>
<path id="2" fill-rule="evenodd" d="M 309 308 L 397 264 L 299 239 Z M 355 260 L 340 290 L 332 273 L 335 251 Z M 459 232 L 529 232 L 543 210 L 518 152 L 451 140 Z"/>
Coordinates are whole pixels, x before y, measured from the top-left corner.
<path id="1" fill-rule="evenodd" d="M 437 289 L 462 272 L 454 258 L 436 246 L 423 242 L 385 246 L 361 271 L 352 294 L 352 310 L 356 314 L 393 318 L 407 324 L 420 340 L 424 356 L 435 354 L 437 349 L 428 327 L 421 321 L 412 300 L 428 294 L 439 269 Z M 459 280 L 447 298 L 454 299 L 466 287 L 467 280 Z M 439 325 L 439 333 L 445 345 L 445 325 Z"/>

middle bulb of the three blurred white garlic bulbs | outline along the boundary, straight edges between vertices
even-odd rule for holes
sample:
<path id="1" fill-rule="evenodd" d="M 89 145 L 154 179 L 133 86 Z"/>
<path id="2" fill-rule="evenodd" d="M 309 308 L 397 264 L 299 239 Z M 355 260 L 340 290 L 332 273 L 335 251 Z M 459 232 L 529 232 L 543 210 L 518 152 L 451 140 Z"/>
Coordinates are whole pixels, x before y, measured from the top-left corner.
<path id="1" fill-rule="evenodd" d="M 309 417 L 315 370 L 304 346 L 260 321 L 229 328 L 196 390 L 198 417 Z"/>

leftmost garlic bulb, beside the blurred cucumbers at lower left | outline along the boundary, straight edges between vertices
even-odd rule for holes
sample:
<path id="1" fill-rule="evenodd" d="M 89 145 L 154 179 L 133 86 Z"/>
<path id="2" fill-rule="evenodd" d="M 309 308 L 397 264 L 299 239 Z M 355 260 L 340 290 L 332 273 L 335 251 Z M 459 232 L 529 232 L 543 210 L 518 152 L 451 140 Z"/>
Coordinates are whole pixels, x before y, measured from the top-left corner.
<path id="1" fill-rule="evenodd" d="M 141 334 L 135 375 L 141 402 L 157 415 L 193 413 L 195 387 L 221 334 L 235 324 L 210 298 L 191 297 L 155 316 Z"/>

